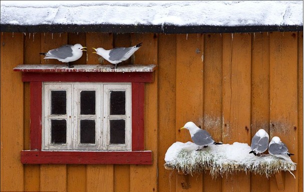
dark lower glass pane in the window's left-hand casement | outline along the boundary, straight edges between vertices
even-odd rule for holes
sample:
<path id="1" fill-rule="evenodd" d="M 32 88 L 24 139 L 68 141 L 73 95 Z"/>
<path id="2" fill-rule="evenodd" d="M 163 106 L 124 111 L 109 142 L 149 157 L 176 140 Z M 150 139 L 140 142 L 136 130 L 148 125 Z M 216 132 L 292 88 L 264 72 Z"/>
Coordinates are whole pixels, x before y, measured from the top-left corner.
<path id="1" fill-rule="evenodd" d="M 63 120 L 51 120 L 51 142 L 64 144 L 67 142 L 67 122 Z"/>

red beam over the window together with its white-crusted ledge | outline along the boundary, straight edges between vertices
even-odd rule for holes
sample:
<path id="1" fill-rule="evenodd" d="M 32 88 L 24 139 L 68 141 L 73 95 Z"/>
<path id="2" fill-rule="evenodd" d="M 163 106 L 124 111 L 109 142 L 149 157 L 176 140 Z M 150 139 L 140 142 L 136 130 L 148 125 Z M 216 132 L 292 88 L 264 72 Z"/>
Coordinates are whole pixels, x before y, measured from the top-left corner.
<path id="1" fill-rule="evenodd" d="M 18 65 L 14 71 L 23 72 L 24 82 L 153 82 L 156 65 Z"/>

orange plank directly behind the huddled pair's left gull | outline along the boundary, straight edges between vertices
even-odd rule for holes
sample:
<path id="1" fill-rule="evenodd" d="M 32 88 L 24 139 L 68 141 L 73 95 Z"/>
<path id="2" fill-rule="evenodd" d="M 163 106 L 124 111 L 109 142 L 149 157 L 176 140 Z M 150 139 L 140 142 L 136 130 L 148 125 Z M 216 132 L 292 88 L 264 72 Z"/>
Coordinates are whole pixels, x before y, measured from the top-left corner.
<path id="1" fill-rule="evenodd" d="M 269 133 L 269 36 L 255 33 L 251 37 L 251 138 L 259 130 Z M 251 145 L 251 140 L 248 143 Z M 267 151 L 265 152 L 267 153 Z M 253 154 L 252 154 L 253 155 Z M 251 191 L 269 191 L 265 175 L 251 173 Z"/>

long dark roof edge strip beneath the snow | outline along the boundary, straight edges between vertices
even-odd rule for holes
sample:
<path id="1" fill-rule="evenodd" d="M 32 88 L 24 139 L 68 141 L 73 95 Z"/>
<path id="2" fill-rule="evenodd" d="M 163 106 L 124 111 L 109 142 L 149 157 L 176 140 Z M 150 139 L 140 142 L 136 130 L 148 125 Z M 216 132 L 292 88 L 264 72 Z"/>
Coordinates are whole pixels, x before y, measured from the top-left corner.
<path id="1" fill-rule="evenodd" d="M 191 33 L 250 33 L 250 32 L 288 32 L 303 31 L 303 26 L 175 26 L 175 25 L 0 25 L 1 32 L 20 33 L 164 33 L 164 34 L 191 34 Z"/>

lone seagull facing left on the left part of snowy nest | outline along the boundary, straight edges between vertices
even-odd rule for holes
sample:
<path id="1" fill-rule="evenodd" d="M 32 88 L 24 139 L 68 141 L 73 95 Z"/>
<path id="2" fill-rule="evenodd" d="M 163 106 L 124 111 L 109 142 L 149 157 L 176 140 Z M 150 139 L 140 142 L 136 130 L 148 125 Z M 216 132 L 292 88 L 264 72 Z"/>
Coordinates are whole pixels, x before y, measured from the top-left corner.
<path id="1" fill-rule="evenodd" d="M 191 121 L 187 122 L 182 128 L 180 128 L 180 130 L 181 129 L 188 129 L 190 132 L 192 141 L 199 147 L 203 146 L 205 148 L 208 145 L 222 144 L 222 143 L 215 142 L 206 130 L 197 127 Z M 197 150 L 201 150 L 199 147 Z"/>

